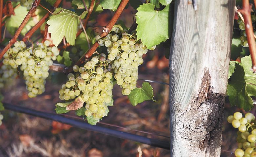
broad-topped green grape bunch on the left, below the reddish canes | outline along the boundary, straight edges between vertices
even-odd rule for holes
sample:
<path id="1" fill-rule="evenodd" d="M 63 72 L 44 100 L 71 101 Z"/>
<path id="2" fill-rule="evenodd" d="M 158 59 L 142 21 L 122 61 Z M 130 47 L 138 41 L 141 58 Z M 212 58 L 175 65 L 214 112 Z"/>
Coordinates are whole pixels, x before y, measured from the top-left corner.
<path id="1" fill-rule="evenodd" d="M 45 91 L 44 85 L 49 75 L 49 66 L 59 55 L 58 48 L 48 47 L 49 45 L 50 42 L 46 40 L 44 43 L 39 43 L 36 48 L 27 48 L 23 41 L 15 42 L 14 47 L 4 55 L 4 65 L 10 65 L 13 68 L 20 66 L 30 98 Z"/>

